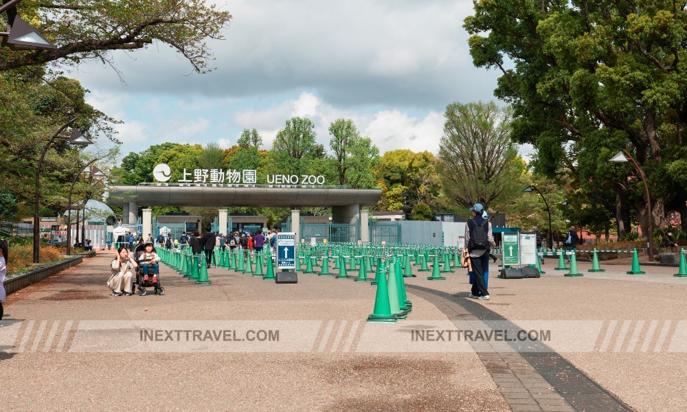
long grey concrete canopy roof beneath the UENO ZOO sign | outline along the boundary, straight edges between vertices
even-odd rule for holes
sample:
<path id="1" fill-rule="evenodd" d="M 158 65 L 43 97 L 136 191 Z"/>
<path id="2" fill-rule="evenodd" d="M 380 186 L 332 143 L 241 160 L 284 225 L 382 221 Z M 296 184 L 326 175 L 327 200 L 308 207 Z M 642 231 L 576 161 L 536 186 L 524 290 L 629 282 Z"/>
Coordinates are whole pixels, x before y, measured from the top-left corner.
<path id="1" fill-rule="evenodd" d="M 110 186 L 109 203 L 140 206 L 258 206 L 332 207 L 373 206 L 381 198 L 379 189 L 311 187 L 211 187 L 177 185 Z"/>

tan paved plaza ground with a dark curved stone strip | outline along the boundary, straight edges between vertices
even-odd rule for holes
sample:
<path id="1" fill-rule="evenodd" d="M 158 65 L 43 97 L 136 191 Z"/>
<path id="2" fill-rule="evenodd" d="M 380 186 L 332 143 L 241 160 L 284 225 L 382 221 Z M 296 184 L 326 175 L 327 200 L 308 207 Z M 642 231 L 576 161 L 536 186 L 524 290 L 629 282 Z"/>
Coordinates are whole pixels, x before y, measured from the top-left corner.
<path id="1" fill-rule="evenodd" d="M 464 269 L 431 282 L 414 266 L 418 277 L 405 279 L 407 319 L 372 324 L 365 319 L 374 286 L 313 274 L 275 284 L 211 268 L 212 285 L 196 285 L 162 266 L 166 295 L 113 297 L 105 286 L 113 256 L 98 253 L 8 297 L 3 409 L 676 411 L 687 404 L 687 278 L 673 277 L 677 268 L 627 275 L 629 266 L 602 263 L 605 273 L 587 273 L 590 264 L 580 263 L 584 277 L 565 277 L 547 260 L 539 279 L 498 279 L 492 266 L 491 300 L 475 301 Z M 459 341 L 457 330 L 511 338 L 534 331 L 542 339 Z M 278 341 L 257 339 L 275 331 Z"/>

